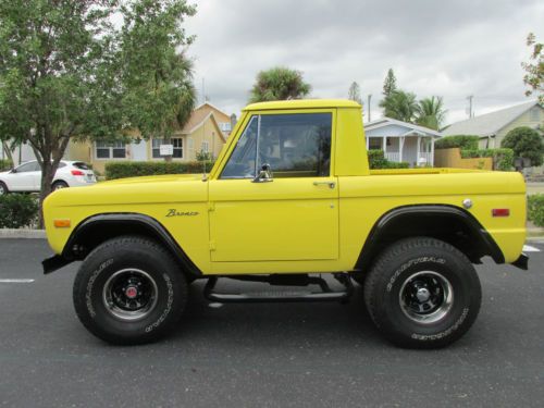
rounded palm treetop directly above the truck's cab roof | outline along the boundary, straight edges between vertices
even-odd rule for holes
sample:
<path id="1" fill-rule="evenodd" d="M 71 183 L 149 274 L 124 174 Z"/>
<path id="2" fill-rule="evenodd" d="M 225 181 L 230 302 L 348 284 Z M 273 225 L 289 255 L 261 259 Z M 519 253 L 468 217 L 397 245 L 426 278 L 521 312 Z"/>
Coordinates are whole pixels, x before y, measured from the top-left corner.
<path id="1" fill-rule="evenodd" d="M 311 85 L 305 83 L 300 71 L 276 66 L 259 72 L 249 101 L 301 99 L 310 94 L 310 90 Z"/>

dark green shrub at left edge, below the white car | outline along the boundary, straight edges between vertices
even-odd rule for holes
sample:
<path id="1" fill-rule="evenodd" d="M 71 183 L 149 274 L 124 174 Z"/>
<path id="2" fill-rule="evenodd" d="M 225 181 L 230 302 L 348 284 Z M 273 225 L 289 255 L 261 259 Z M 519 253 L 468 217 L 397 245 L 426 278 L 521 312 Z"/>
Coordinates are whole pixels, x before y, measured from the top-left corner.
<path id="1" fill-rule="evenodd" d="M 0 196 L 0 228 L 21 228 L 37 221 L 38 200 L 29 194 Z"/>

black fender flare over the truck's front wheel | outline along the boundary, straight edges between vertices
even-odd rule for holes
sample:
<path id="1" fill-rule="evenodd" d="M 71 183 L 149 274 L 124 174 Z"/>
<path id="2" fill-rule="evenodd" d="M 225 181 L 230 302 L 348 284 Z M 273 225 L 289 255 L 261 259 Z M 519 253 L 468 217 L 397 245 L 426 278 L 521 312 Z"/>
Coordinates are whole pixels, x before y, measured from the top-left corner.
<path id="1" fill-rule="evenodd" d="M 112 228 L 115 231 L 114 234 L 104 233 L 112 231 Z M 125 231 L 126 234 L 138 231 L 146 236 L 152 237 L 170 250 L 183 270 L 189 275 L 197 277 L 202 274 L 159 221 L 149 215 L 124 212 L 97 214 L 83 220 L 70 235 L 62 255 L 53 256 L 42 262 L 44 273 L 51 273 L 65 264 L 85 258 L 89 249 L 94 249 L 94 247 L 112 236 L 124 235 Z M 100 239 L 94 240 L 98 232 L 102 235 Z M 86 248 L 87 244 L 91 244 L 91 248 Z"/>

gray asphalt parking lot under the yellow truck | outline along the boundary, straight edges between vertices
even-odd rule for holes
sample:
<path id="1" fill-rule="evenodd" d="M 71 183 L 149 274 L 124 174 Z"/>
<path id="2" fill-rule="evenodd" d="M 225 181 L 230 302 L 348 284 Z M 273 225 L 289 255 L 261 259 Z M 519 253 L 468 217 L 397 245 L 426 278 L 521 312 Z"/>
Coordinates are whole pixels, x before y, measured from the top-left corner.
<path id="1" fill-rule="evenodd" d="M 529 271 L 478 267 L 463 338 L 415 351 L 380 337 L 360 288 L 349 305 L 210 307 L 200 283 L 173 336 L 109 346 L 75 317 L 77 264 L 44 276 L 45 240 L 0 239 L 0 406 L 542 407 L 544 245 L 530 245 Z"/>

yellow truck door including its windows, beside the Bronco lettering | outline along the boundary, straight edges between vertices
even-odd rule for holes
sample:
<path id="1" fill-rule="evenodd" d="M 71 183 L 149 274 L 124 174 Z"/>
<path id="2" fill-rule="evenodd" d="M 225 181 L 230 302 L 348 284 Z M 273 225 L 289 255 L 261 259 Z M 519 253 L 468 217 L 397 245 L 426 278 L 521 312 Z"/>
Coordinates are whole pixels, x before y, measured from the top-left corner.
<path id="1" fill-rule="evenodd" d="M 334 110 L 249 116 L 209 182 L 211 261 L 338 258 L 334 118 Z"/>

